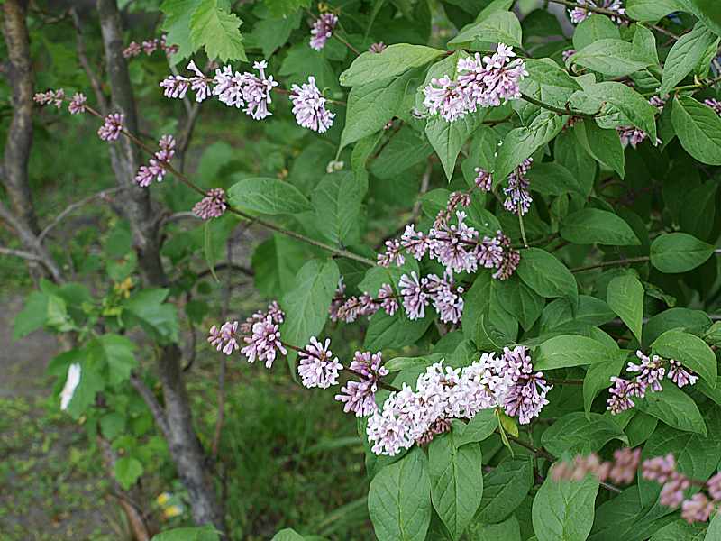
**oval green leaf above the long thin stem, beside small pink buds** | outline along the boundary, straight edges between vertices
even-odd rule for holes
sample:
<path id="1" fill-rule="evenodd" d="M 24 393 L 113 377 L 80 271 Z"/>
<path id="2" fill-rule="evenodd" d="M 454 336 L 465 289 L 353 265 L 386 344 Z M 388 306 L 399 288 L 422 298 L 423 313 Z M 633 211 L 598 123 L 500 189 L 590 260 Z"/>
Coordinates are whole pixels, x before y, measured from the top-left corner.
<path id="1" fill-rule="evenodd" d="M 265 215 L 295 215 L 313 209 L 298 188 L 269 177 L 239 180 L 228 190 L 228 202 Z"/>

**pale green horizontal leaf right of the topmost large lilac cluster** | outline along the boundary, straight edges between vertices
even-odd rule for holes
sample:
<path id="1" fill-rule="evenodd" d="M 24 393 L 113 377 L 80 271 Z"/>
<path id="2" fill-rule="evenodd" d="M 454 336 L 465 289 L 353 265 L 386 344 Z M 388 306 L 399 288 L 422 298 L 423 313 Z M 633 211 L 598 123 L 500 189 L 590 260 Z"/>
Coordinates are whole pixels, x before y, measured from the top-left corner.
<path id="1" fill-rule="evenodd" d="M 569 61 L 608 77 L 625 77 L 653 64 L 652 60 L 643 57 L 633 43 L 616 39 L 594 41 L 579 50 Z"/>

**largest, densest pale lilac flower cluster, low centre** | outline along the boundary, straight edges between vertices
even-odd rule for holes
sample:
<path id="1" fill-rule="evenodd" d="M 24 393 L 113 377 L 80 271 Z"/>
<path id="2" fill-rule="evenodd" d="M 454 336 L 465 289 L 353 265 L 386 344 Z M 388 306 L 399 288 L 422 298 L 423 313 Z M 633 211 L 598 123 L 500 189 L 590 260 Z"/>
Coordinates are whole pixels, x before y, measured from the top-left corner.
<path id="1" fill-rule="evenodd" d="M 503 408 L 528 423 L 548 403 L 550 389 L 541 372 L 533 373 L 524 346 L 506 348 L 500 356 L 483 353 L 462 369 L 436 362 L 418 377 L 415 391 L 404 383 L 370 417 L 371 449 L 393 456 L 415 443 L 428 443 L 448 429 L 452 418 L 472 418 L 488 408 Z"/>

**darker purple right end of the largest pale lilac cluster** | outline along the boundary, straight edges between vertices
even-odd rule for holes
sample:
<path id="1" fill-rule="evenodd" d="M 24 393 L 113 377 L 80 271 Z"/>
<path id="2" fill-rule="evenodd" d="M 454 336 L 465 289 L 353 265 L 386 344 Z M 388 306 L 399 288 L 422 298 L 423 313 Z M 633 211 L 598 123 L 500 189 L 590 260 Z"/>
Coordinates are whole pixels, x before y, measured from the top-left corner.
<path id="1" fill-rule="evenodd" d="M 548 404 L 546 395 L 553 386 L 543 378 L 543 372 L 534 372 L 531 356 L 523 345 L 514 349 L 504 348 L 503 358 L 508 371 L 513 374 L 514 384 L 508 390 L 504 409 L 507 415 L 518 417 L 518 422 L 527 425 L 538 417 L 543 406 Z"/>

